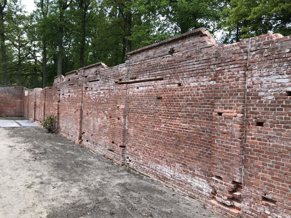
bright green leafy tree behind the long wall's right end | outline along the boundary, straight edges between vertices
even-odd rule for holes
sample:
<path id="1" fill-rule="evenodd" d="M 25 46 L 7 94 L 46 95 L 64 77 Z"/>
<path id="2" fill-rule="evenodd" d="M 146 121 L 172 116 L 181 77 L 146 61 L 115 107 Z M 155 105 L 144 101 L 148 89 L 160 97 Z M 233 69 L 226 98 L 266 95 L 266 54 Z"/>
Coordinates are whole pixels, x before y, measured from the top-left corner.
<path id="1" fill-rule="evenodd" d="M 291 2 L 287 0 L 231 0 L 223 14 L 223 43 L 268 32 L 291 34 Z"/>

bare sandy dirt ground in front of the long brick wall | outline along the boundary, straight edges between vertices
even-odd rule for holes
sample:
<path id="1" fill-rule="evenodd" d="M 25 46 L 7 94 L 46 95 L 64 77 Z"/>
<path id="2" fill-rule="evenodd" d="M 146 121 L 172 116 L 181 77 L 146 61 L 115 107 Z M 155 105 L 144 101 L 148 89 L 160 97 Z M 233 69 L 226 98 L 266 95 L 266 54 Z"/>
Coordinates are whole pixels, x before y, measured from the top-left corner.
<path id="1" fill-rule="evenodd" d="M 0 128 L 0 217 L 220 216 L 60 135 L 20 127 Z"/>

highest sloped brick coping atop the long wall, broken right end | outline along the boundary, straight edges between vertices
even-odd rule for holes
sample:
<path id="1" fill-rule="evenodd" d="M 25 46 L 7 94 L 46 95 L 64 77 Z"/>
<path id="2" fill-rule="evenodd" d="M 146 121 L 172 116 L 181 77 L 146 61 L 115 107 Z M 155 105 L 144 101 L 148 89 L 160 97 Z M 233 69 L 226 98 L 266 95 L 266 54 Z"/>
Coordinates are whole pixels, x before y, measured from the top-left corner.
<path id="1" fill-rule="evenodd" d="M 204 30 L 203 28 L 200 28 L 200 29 L 196 29 L 196 30 L 178 35 L 178 36 L 174 36 L 170 39 L 166 39 L 166 40 L 163 40 L 163 41 L 151 44 L 151 45 L 147 45 L 145 47 L 142 47 L 142 48 L 134 50 L 134 51 L 130 51 L 130 52 L 126 53 L 126 55 L 128 55 L 128 56 L 134 55 L 134 54 L 137 54 L 137 53 L 140 53 L 140 52 L 143 52 L 146 50 L 150 50 L 150 49 L 162 46 L 162 45 L 170 44 L 170 43 L 178 41 L 178 40 L 190 38 L 192 36 L 199 36 L 199 35 L 200 36 L 207 36 L 209 39 L 211 39 L 211 41 L 213 42 L 213 45 L 218 45 L 217 41 L 213 38 L 213 36 L 210 34 L 210 32 Z"/>

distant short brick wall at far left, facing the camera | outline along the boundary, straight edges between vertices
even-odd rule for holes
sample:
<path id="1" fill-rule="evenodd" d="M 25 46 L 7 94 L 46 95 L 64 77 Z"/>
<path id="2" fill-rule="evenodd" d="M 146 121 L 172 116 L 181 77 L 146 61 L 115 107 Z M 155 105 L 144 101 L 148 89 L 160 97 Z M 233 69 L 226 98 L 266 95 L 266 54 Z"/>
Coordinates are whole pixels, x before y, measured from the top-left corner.
<path id="1" fill-rule="evenodd" d="M 0 116 L 22 116 L 24 87 L 0 86 Z"/>

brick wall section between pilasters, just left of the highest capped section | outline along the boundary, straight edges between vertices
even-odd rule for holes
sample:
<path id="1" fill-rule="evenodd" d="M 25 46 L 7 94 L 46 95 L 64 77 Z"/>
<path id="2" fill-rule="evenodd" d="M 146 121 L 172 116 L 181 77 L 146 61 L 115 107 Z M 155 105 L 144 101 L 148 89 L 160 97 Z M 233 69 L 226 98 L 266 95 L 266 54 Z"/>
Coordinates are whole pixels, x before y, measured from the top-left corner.
<path id="1" fill-rule="evenodd" d="M 126 85 L 120 72 L 126 64 L 106 69 L 98 63 L 84 69 L 82 143 L 96 153 L 124 164 Z"/>

